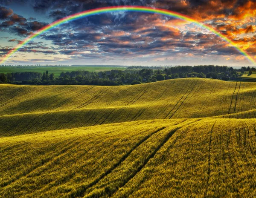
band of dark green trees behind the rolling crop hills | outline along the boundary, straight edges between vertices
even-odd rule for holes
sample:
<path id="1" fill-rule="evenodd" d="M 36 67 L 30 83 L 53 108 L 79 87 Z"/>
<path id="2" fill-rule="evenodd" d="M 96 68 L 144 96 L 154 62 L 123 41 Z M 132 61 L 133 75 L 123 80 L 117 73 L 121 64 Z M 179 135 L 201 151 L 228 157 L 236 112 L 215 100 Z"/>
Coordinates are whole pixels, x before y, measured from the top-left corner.
<path id="1" fill-rule="evenodd" d="M 117 86 L 125 84 L 140 84 L 168 80 L 175 78 L 200 77 L 220 80 L 237 80 L 245 71 L 256 71 L 255 68 L 242 67 L 233 69 L 227 66 L 175 66 L 162 69 L 144 67 L 137 69 L 135 66 L 126 70 L 113 69 L 105 72 L 74 71 L 61 72 L 55 77 L 48 71 L 39 72 L 12 72 L 1 73 L 0 83 L 32 84 L 32 85 L 102 85 Z M 239 74 L 238 72 L 241 72 Z"/>

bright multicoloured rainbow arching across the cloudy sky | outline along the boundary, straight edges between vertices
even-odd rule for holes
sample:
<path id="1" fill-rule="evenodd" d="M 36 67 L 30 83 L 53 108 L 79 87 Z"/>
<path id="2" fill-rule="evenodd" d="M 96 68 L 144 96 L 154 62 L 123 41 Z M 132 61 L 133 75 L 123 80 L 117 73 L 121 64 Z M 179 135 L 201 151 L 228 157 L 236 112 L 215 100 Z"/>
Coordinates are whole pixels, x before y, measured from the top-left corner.
<path id="1" fill-rule="evenodd" d="M 17 52 L 20 48 L 22 48 L 24 45 L 26 45 L 26 43 L 28 43 L 29 41 L 31 41 L 32 39 L 34 39 L 35 37 L 37 37 L 38 35 L 58 26 L 61 25 L 62 23 L 66 23 L 72 20 L 76 20 L 82 17 L 88 17 L 88 16 L 92 16 L 92 15 L 96 15 L 96 14 L 102 14 L 102 13 L 108 13 L 108 12 L 119 12 L 119 11 L 134 11 L 134 12 L 146 12 L 146 13 L 154 13 L 154 14 L 161 14 L 161 15 L 165 15 L 165 16 L 169 16 L 169 17 L 174 17 L 180 20 L 185 20 L 191 23 L 195 23 L 196 25 L 204 28 L 204 29 L 208 29 L 210 32 L 212 32 L 213 34 L 218 35 L 219 37 L 221 37 L 222 39 L 224 39 L 225 41 L 227 41 L 227 43 L 230 43 L 231 46 L 233 46 L 234 48 L 236 48 L 241 55 L 244 55 L 245 57 L 247 57 L 248 60 L 250 60 L 250 62 L 253 65 L 256 65 L 255 60 L 253 59 L 253 57 L 251 57 L 247 52 L 245 52 L 243 49 L 239 48 L 236 43 L 234 43 L 232 40 L 230 40 L 229 38 L 227 38 L 224 34 L 222 34 L 221 32 L 216 31 L 215 29 L 211 28 L 210 26 L 208 26 L 207 24 L 198 22 L 197 20 L 188 17 L 184 14 L 180 14 L 177 13 L 175 11 L 169 11 L 169 10 L 165 10 L 165 9 L 158 9 L 158 8 L 151 8 L 151 7 L 144 7 L 144 6 L 113 6 L 113 7 L 105 7 L 105 8 L 98 8 L 98 9 L 92 9 L 92 10 L 87 10 L 87 11 L 82 11 L 76 14 L 72 14 L 70 16 L 64 17 L 60 20 L 57 20 L 53 23 L 50 23 L 49 25 L 43 27 L 42 29 L 39 29 L 37 32 L 35 32 L 34 34 L 31 34 L 29 37 L 27 37 L 26 39 L 24 39 L 22 42 L 20 42 L 14 49 L 10 50 L 4 57 L 3 59 L 0 61 L 0 64 L 3 64 L 6 62 L 6 60 L 9 59 L 9 57 L 11 57 L 15 52 Z"/>

